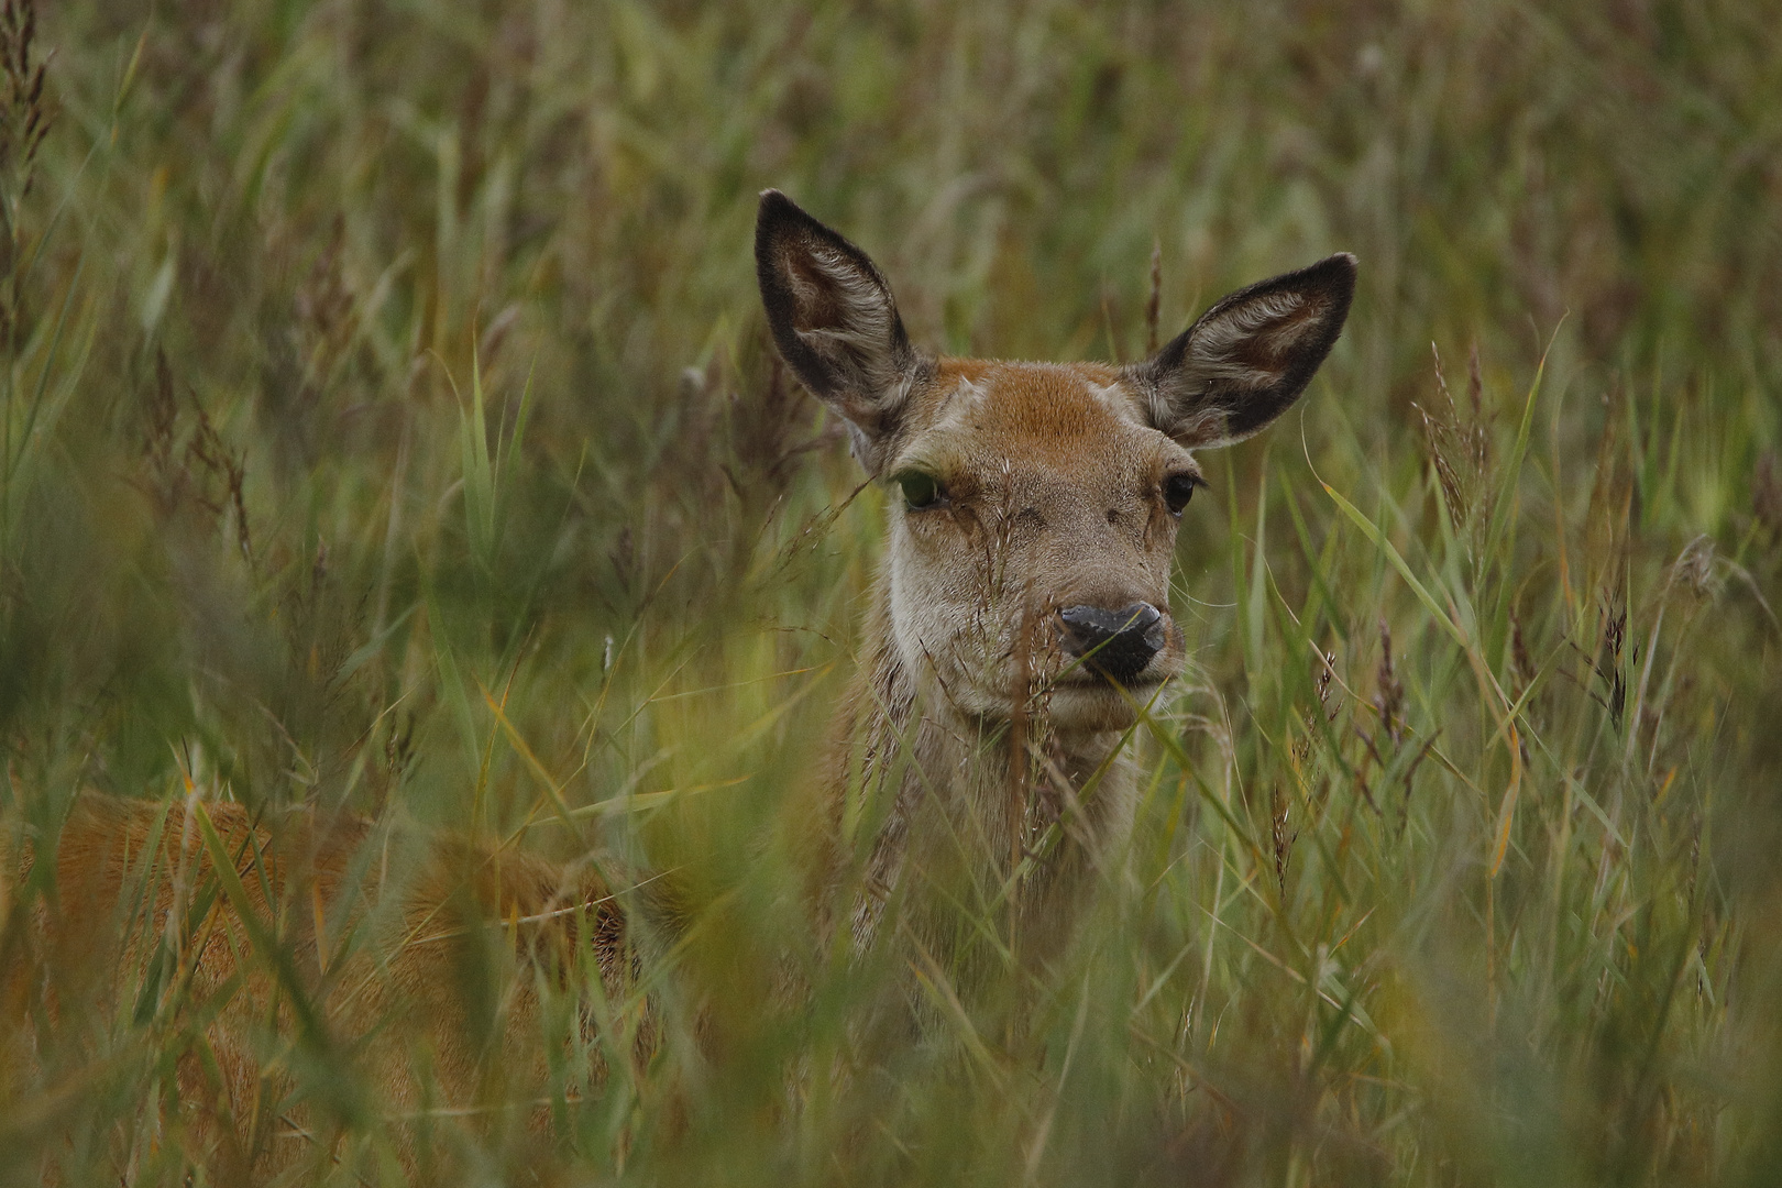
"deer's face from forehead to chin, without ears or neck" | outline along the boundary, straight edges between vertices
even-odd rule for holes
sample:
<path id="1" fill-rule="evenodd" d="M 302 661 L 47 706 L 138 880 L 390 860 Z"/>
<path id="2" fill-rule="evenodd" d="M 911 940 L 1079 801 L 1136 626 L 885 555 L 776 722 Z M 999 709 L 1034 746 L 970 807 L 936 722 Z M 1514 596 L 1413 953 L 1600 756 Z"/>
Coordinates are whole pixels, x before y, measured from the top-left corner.
<path id="1" fill-rule="evenodd" d="M 971 718 L 1132 721 L 1181 666 L 1176 525 L 1201 481 L 1110 367 L 943 360 L 905 408 L 893 486 L 891 634 Z"/>

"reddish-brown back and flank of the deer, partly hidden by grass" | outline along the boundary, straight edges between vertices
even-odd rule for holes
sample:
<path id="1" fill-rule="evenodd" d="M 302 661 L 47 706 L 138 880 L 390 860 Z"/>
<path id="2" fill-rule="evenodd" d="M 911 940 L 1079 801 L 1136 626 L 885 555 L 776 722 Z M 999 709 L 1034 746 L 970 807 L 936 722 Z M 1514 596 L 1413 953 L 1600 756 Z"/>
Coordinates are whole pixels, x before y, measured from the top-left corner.
<path id="1" fill-rule="evenodd" d="M 53 896 L 29 940 L 5 937 L 9 960 L 34 951 L 7 978 L 11 1035 L 0 1038 L 14 1058 L 39 1044 L 20 1010 L 25 969 L 43 978 L 52 1044 L 64 1022 L 103 1029 L 119 1013 L 162 1037 L 200 1026 L 203 1040 L 178 1056 L 176 1115 L 225 1179 L 326 1161 L 335 1131 L 365 1115 L 536 1103 L 547 1086 L 538 980 L 574 976 L 583 944 L 615 996 L 629 972 L 595 871 L 347 816 L 257 823 L 233 803 L 82 794 L 53 862 Z M 21 882 L 30 867 L 27 855 Z M 148 980 L 157 953 L 159 987 Z M 499 967 L 503 953 L 519 958 L 519 976 L 479 985 L 474 971 Z M 331 1067 L 346 1092 L 283 1108 L 298 1063 Z"/>

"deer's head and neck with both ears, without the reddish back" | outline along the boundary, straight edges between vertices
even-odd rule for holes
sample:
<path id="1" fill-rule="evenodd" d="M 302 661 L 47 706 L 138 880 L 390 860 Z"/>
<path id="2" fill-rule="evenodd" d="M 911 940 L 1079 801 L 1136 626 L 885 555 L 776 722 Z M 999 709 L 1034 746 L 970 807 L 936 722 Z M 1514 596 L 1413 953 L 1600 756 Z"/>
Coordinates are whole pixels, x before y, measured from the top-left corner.
<path id="1" fill-rule="evenodd" d="M 1356 258 L 1240 289 L 1130 365 L 923 354 L 871 258 L 779 191 L 756 271 L 781 356 L 891 493 L 823 784 L 832 823 L 850 796 L 880 805 L 873 837 L 839 844 L 866 853 L 855 942 L 900 896 L 957 967 L 937 907 L 1001 899 L 1044 960 L 1132 825 L 1124 743 L 1183 668 L 1169 577 L 1196 452 L 1299 399 Z"/>

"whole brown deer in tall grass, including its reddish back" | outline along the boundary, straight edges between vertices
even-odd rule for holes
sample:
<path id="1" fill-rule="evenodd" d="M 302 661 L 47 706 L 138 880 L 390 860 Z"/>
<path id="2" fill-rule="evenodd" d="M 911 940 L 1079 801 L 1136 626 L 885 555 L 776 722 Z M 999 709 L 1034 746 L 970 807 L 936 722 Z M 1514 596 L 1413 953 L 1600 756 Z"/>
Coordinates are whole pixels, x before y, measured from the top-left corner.
<path id="1" fill-rule="evenodd" d="M 887 492 L 855 673 L 804 793 L 816 803 L 795 814 L 814 917 L 861 951 L 895 917 L 969 980 L 943 905 L 1001 896 L 1023 955 L 1044 960 L 1132 826 L 1128 743 L 1185 664 L 1169 581 L 1205 484 L 1196 452 L 1299 399 L 1342 331 L 1356 260 L 1240 289 L 1112 365 L 918 351 L 871 258 L 779 191 L 761 194 L 754 248 L 779 354 Z M 417 860 L 390 864 L 392 848 Z M 176 987 L 207 1012 L 184 1024 L 201 1040 L 178 1058 L 178 1092 L 230 1181 L 337 1158 L 367 1108 L 467 1106 L 492 1083 L 536 1099 L 542 992 L 592 978 L 584 999 L 624 1001 L 638 933 L 686 923 L 666 883 L 627 894 L 599 855 L 552 864 L 196 793 L 82 793 L 39 850 L 43 866 L 30 846 L 0 853 L 0 1058 L 21 1067 L 39 1046 L 32 1003 L 39 1019 L 159 1021 Z M 7 907 L 7 878 L 39 887 L 30 908 Z M 478 1008 L 463 967 L 492 948 L 513 976 Z M 301 1060 L 342 1062 L 369 1090 L 289 1103 L 282 1069 Z M 413 1143 L 399 1156 L 412 1165 Z"/>

